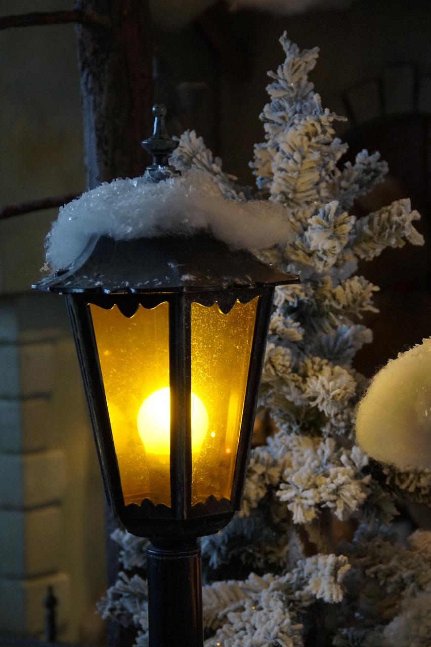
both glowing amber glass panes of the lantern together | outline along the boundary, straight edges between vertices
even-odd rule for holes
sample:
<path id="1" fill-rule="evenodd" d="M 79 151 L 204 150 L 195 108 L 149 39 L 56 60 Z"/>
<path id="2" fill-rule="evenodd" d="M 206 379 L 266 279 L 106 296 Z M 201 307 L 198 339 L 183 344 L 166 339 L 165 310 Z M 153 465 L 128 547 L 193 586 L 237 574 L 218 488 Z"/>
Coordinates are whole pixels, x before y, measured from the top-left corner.
<path id="1" fill-rule="evenodd" d="M 192 505 L 231 496 L 258 300 L 190 306 Z M 124 503 L 170 507 L 170 305 L 89 309 Z"/>

